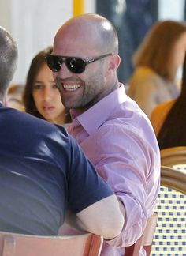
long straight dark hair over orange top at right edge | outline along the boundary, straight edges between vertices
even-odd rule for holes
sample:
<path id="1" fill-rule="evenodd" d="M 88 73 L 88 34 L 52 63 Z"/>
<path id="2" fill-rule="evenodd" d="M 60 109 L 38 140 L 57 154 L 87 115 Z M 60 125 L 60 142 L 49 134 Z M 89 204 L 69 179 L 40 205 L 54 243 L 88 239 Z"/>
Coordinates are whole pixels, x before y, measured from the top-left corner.
<path id="1" fill-rule="evenodd" d="M 158 133 L 158 145 L 160 149 L 166 149 L 173 146 L 186 145 L 186 55 L 184 58 L 183 77 L 181 83 L 180 96 L 173 104 L 162 128 Z"/>

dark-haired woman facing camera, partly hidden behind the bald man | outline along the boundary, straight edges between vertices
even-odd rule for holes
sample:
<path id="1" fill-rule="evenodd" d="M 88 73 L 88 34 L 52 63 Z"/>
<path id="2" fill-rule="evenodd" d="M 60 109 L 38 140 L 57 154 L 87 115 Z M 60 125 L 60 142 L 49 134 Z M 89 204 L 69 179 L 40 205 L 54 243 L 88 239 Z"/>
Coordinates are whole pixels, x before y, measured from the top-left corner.
<path id="1" fill-rule="evenodd" d="M 69 110 L 61 103 L 61 96 L 54 83 L 52 71 L 46 63 L 52 47 L 40 51 L 32 59 L 24 88 L 25 111 L 59 125 L 71 122 Z"/>

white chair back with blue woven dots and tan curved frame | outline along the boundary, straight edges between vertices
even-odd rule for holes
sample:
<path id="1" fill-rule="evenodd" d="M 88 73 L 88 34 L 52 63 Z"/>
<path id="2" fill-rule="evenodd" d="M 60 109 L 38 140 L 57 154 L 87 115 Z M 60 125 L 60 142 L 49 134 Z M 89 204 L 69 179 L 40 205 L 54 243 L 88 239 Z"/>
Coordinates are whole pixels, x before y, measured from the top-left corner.
<path id="1" fill-rule="evenodd" d="M 186 173 L 162 166 L 151 256 L 186 255 Z"/>

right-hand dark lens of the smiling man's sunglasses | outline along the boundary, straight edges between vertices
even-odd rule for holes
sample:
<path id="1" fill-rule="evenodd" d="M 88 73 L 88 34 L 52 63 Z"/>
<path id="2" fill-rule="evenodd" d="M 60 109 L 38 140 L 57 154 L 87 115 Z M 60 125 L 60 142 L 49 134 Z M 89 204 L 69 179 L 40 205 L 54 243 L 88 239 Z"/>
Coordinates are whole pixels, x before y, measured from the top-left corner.
<path id="1" fill-rule="evenodd" d="M 66 66 L 73 73 L 83 73 L 86 65 L 83 58 L 66 58 Z"/>

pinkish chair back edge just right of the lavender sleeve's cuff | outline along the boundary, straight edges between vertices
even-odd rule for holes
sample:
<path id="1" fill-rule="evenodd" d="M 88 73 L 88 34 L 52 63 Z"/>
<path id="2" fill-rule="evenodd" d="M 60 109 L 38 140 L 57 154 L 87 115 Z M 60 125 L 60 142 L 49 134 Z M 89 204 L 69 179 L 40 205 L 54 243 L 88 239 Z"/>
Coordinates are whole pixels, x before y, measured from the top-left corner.
<path id="1" fill-rule="evenodd" d="M 157 218 L 156 213 L 148 217 L 143 235 L 132 246 L 125 247 L 125 256 L 139 256 L 141 247 L 144 248 L 147 256 L 151 254 L 151 245 L 154 238 Z"/>

